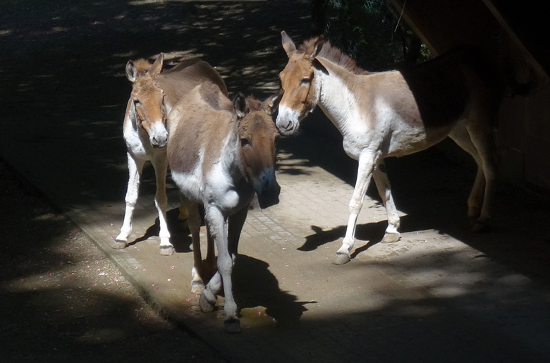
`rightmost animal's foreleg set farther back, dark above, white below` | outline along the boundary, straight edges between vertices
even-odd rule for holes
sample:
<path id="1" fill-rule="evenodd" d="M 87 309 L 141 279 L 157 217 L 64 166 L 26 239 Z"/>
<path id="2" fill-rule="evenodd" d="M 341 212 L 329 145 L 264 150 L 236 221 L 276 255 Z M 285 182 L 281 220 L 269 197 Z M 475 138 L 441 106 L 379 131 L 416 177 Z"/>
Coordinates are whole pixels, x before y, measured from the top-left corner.
<path id="1" fill-rule="evenodd" d="M 388 174 L 386 174 L 384 160 L 378 162 L 377 167 L 372 172 L 372 176 L 374 177 L 374 183 L 377 185 L 378 194 L 382 198 L 384 207 L 386 207 L 386 214 L 388 214 L 388 228 L 386 228 L 382 243 L 397 242 L 401 239 L 401 234 L 399 233 L 401 220 L 399 219 L 396 204 L 393 202 L 393 196 L 391 195 L 391 187 Z"/>

